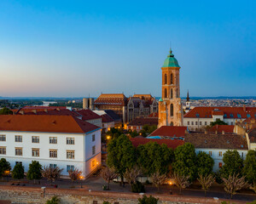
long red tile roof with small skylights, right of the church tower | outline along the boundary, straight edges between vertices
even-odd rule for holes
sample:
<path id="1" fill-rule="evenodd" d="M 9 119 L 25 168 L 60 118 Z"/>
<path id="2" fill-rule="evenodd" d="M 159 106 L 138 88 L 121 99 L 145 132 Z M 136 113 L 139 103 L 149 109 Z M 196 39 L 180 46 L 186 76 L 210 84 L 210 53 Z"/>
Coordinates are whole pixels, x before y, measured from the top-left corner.
<path id="1" fill-rule="evenodd" d="M 224 115 L 224 118 L 247 118 L 247 115 L 256 116 L 256 107 L 195 107 L 184 118 L 212 118 L 215 112 Z"/>

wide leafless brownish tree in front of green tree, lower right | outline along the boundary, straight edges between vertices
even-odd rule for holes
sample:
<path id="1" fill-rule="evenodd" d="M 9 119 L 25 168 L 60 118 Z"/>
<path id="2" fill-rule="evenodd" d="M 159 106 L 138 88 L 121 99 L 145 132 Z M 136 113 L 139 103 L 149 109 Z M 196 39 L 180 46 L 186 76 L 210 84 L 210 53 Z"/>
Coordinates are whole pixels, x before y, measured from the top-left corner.
<path id="1" fill-rule="evenodd" d="M 233 173 L 232 175 L 229 175 L 228 178 L 222 178 L 224 181 L 224 190 L 230 194 L 230 199 L 232 199 L 233 195 L 236 195 L 237 190 L 241 190 L 243 188 L 249 187 L 249 184 L 245 180 L 245 177 L 239 176 L 239 174 Z"/>

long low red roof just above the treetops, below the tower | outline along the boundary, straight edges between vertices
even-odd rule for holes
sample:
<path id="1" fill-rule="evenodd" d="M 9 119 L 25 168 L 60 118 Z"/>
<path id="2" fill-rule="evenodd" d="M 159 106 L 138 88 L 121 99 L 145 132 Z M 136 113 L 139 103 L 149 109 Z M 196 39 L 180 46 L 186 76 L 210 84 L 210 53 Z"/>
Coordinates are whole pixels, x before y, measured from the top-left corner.
<path id="1" fill-rule="evenodd" d="M 179 145 L 183 145 L 184 141 L 180 139 L 146 139 L 146 138 L 131 138 L 133 146 L 137 147 L 139 144 L 147 144 L 148 142 L 156 142 L 157 144 L 166 144 L 168 148 L 173 150 Z"/>

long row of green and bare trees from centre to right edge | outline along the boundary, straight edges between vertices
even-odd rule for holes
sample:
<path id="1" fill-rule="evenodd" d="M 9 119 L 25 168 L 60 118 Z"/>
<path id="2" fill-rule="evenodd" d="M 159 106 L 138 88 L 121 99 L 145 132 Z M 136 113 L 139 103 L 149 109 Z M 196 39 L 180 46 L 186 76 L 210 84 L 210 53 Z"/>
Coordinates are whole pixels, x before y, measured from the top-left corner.
<path id="1" fill-rule="evenodd" d="M 167 175 L 172 175 L 175 184 L 181 190 L 196 179 L 203 190 L 208 190 L 215 182 L 225 184 L 225 190 L 234 195 L 237 190 L 254 186 L 256 179 L 256 151 L 249 150 L 245 161 L 237 150 L 224 153 L 224 166 L 218 173 L 212 173 L 214 161 L 205 152 L 195 154 L 195 147 L 186 143 L 176 150 L 167 148 L 166 144 L 148 143 L 134 148 L 125 135 L 112 139 L 108 144 L 108 167 L 119 175 L 121 183 L 124 178 L 128 183 L 136 184 L 137 177 L 146 175 L 159 187 L 166 182 Z M 236 178 L 239 178 L 237 180 Z M 256 191 L 256 190 L 255 190 Z"/>

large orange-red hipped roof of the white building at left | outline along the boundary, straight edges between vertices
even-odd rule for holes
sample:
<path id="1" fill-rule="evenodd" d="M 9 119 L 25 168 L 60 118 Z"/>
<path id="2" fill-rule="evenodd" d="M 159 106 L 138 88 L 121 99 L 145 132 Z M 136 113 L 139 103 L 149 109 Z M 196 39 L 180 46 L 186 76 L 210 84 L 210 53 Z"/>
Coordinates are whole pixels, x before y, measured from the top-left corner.
<path id="1" fill-rule="evenodd" d="M 88 133 L 97 126 L 73 116 L 0 116 L 0 130 L 47 133 Z"/>

